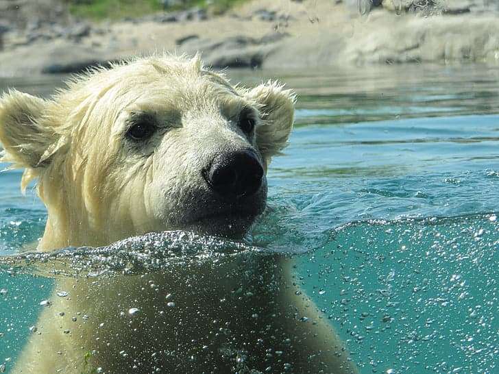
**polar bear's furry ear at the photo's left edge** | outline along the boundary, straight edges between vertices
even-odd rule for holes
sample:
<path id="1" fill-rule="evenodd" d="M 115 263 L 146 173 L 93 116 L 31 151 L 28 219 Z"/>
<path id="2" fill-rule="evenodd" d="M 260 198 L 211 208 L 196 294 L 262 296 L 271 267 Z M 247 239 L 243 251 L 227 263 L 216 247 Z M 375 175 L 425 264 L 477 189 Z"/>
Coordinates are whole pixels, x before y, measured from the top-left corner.
<path id="1" fill-rule="evenodd" d="M 38 124 L 46 104 L 17 90 L 0 97 L 0 161 L 10 162 L 14 168 L 44 166 L 44 153 L 54 142 L 53 132 Z"/>

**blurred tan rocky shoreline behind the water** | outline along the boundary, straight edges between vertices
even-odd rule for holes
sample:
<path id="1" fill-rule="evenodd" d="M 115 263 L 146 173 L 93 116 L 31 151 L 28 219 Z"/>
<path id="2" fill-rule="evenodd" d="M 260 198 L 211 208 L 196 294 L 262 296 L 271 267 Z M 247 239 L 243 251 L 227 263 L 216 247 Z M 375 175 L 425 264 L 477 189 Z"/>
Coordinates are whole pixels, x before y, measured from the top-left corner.
<path id="1" fill-rule="evenodd" d="M 499 64 L 499 5 L 487 0 L 255 0 L 221 16 L 193 8 L 99 24 L 44 1 L 52 8 L 37 8 L 42 17 L 0 16 L 0 76 L 75 73 L 158 51 L 200 51 L 217 68 Z M 14 3 L 29 2 L 0 0 L 0 14 Z"/>

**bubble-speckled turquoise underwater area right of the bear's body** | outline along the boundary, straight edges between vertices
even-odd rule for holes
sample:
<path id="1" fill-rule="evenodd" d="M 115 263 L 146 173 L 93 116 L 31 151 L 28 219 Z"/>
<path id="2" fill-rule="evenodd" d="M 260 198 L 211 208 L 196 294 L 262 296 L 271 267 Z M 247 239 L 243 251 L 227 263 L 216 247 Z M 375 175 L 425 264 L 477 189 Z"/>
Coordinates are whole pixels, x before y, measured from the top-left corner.
<path id="1" fill-rule="evenodd" d="M 348 223 L 299 267 L 366 370 L 491 373 L 498 238 L 494 213 Z"/>

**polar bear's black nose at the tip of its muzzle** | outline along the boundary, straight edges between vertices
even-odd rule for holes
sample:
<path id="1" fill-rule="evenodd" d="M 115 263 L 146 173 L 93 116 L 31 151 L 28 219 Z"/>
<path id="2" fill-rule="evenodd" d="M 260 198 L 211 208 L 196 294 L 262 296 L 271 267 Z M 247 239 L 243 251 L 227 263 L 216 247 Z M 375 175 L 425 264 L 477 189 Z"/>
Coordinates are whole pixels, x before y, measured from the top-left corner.
<path id="1" fill-rule="evenodd" d="M 262 186 L 263 166 L 253 151 L 227 152 L 215 157 L 204 177 L 222 197 L 251 196 Z"/>

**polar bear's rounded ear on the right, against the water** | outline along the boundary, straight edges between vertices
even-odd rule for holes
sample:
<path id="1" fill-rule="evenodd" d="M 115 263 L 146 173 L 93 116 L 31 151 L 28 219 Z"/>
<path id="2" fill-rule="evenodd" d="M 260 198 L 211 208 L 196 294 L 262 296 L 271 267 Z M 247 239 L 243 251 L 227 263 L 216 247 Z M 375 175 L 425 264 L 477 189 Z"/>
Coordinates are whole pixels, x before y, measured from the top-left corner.
<path id="1" fill-rule="evenodd" d="M 293 129 L 296 95 L 277 82 L 267 82 L 249 90 L 246 97 L 256 104 L 262 115 L 256 127 L 256 145 L 268 163 L 287 146 Z"/>

